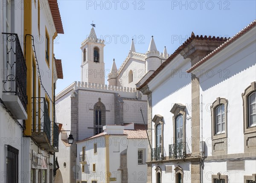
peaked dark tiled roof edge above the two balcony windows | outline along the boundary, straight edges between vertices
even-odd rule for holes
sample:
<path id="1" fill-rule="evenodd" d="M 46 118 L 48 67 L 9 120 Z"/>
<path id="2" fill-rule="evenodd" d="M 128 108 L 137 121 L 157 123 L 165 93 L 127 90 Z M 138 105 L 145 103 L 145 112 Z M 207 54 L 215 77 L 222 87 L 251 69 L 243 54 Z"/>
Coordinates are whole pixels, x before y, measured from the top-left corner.
<path id="1" fill-rule="evenodd" d="M 148 84 L 155 76 L 157 76 L 158 73 L 161 72 L 161 70 L 163 70 L 164 67 L 166 67 L 166 65 L 168 65 L 186 46 L 188 46 L 193 40 L 210 40 L 210 41 L 226 41 L 229 38 L 219 38 L 219 37 L 207 37 L 206 35 L 203 36 L 199 36 L 196 35 L 192 32 L 191 37 L 189 37 L 182 45 L 180 45 L 180 47 L 178 47 L 175 52 L 165 61 L 163 62 L 163 64 L 160 65 L 160 67 L 157 68 L 157 70 L 151 75 L 149 76 L 149 78 L 142 84 L 140 85 L 140 87 L 137 88 L 137 90 L 140 90 L 142 87 L 144 87 L 146 84 Z"/>

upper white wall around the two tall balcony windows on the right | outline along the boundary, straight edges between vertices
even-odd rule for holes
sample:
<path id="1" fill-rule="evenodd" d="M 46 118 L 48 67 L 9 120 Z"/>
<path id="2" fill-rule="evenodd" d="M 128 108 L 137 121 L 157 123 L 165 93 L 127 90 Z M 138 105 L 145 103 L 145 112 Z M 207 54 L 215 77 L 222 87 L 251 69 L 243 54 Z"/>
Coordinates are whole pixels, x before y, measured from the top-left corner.
<path id="1" fill-rule="evenodd" d="M 148 85 L 152 91 L 152 118 L 156 114 L 163 116 L 163 146 L 167 156 L 169 156 L 169 144 L 173 144 L 174 138 L 173 114 L 170 110 L 175 103 L 180 103 L 186 105 L 186 117 L 191 116 L 192 113 L 191 77 L 186 73 L 186 69 L 190 67 L 190 61 L 189 59 L 183 60 L 183 57 L 179 55 L 172 63 L 166 66 L 161 76 L 154 78 Z M 161 81 L 161 79 L 164 79 L 164 81 Z M 154 83 L 154 86 L 151 83 Z M 189 144 L 189 140 L 191 139 L 191 120 L 186 119 L 185 124 L 186 142 L 191 150 L 191 144 Z M 152 128 L 154 128 L 154 122 L 152 122 Z M 153 130 L 152 148 L 154 147 L 155 133 Z"/>

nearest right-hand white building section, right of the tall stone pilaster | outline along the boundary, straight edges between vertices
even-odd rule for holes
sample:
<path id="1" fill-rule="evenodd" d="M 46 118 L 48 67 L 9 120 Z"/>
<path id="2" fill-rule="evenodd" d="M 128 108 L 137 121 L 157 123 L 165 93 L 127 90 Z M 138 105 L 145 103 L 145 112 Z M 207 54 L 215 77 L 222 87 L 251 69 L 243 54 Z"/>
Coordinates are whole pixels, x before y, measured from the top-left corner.
<path id="1" fill-rule="evenodd" d="M 203 182 L 255 183 L 256 21 L 189 72 L 200 85 Z"/>

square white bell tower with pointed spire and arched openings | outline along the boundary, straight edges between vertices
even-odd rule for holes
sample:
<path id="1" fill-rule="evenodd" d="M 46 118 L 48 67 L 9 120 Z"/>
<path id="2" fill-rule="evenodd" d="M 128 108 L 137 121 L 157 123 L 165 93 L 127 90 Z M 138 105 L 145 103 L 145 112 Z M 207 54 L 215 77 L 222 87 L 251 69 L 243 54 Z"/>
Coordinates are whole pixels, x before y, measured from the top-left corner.
<path id="1" fill-rule="evenodd" d="M 93 24 L 94 25 L 94 24 Z M 104 40 L 97 39 L 94 28 L 82 42 L 81 81 L 105 84 Z"/>

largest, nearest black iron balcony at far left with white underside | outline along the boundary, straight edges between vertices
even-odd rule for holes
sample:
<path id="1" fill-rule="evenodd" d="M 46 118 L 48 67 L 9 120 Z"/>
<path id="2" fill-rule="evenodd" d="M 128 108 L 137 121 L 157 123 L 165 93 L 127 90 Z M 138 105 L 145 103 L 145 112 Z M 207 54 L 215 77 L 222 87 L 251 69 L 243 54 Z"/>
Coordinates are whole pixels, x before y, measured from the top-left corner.
<path id="1" fill-rule="evenodd" d="M 3 101 L 16 119 L 27 119 L 26 61 L 18 35 L 2 34 L 4 40 Z"/>

